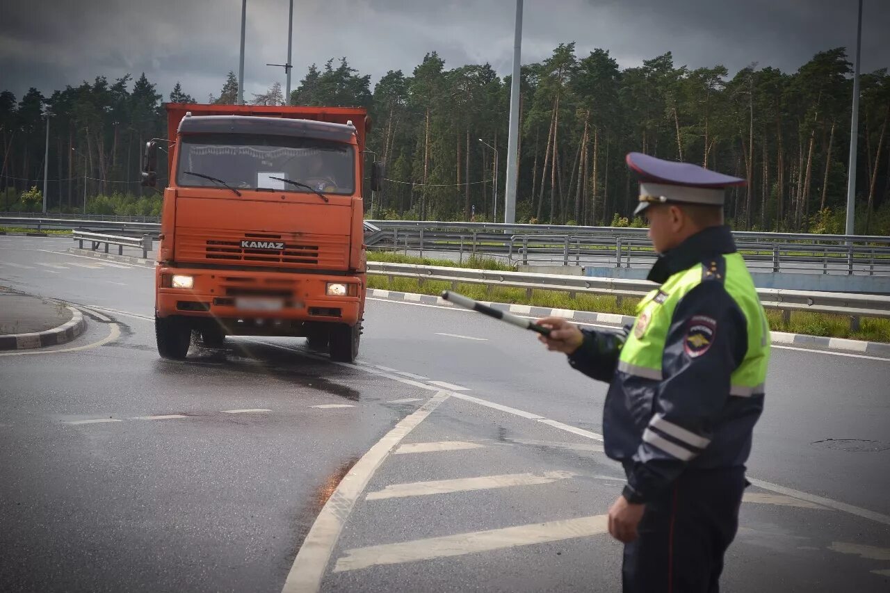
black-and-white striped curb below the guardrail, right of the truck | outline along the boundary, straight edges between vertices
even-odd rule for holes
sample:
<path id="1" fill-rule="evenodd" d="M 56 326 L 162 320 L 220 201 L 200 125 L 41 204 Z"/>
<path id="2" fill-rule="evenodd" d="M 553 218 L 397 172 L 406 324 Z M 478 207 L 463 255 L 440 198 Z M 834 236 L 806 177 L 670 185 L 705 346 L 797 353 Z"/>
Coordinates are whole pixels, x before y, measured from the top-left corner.
<path id="1" fill-rule="evenodd" d="M 438 305 L 445 307 L 456 306 L 443 300 L 441 296 L 418 295 L 409 292 L 396 292 L 394 290 L 380 290 L 379 288 L 368 288 L 368 296 L 384 298 L 396 302 L 421 303 L 423 305 Z M 495 309 L 500 309 L 501 311 L 508 311 L 520 315 L 530 315 L 531 317 L 562 317 L 571 321 L 579 321 L 581 323 L 605 323 L 607 325 L 624 326 L 632 324 L 635 320 L 634 317 L 629 315 L 618 315 L 613 313 L 548 309 L 546 307 L 508 305 L 506 303 L 486 302 L 484 304 L 494 307 Z M 890 344 L 884 344 L 883 342 L 850 340 L 844 337 L 807 336 L 806 334 L 790 334 L 782 331 L 773 331 L 771 332 L 771 335 L 773 337 L 773 344 L 775 345 L 799 345 L 827 350 L 890 356 Z"/>

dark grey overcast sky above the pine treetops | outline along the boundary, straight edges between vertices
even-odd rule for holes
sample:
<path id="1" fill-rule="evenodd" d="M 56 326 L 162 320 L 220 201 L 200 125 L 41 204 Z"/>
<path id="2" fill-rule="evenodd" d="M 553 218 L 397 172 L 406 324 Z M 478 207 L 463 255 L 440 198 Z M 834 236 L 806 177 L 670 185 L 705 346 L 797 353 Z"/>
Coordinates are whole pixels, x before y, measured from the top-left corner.
<path id="1" fill-rule="evenodd" d="M 166 100 L 177 80 L 206 101 L 238 72 L 240 0 L 4 0 L 0 90 L 49 95 L 103 75 L 145 72 Z M 389 69 L 406 75 L 427 52 L 446 68 L 512 63 L 514 0 L 295 0 L 293 87 L 309 64 L 346 56 L 373 84 Z M 595 47 L 622 68 L 673 52 L 676 65 L 757 62 L 796 70 L 813 53 L 854 53 L 856 0 L 525 0 L 522 62 L 563 42 L 579 57 Z M 283 69 L 288 0 L 247 0 L 246 98 Z M 890 2 L 864 0 L 862 71 L 890 67 Z"/>

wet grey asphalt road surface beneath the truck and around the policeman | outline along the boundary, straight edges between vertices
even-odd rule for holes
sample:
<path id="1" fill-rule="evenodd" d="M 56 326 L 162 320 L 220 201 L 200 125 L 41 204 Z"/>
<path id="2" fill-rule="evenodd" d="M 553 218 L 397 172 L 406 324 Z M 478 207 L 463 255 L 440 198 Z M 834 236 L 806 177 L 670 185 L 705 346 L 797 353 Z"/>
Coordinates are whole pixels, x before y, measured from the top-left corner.
<path id="1" fill-rule="evenodd" d="M 577 537 L 619 467 L 543 421 L 602 432 L 605 386 L 530 335 L 374 300 L 359 365 L 279 338 L 161 361 L 151 271 L 69 246 L 0 237 L 0 284 L 94 307 L 67 352 L 0 356 L 0 589 L 279 591 L 341 477 L 444 388 L 370 477 L 321 589 L 619 590 L 619 544 Z M 773 352 L 749 463 L 766 484 L 748 489 L 725 590 L 890 589 L 888 371 Z M 537 543 L 499 531 L 537 524 Z M 510 545 L 473 548 L 486 534 Z"/>

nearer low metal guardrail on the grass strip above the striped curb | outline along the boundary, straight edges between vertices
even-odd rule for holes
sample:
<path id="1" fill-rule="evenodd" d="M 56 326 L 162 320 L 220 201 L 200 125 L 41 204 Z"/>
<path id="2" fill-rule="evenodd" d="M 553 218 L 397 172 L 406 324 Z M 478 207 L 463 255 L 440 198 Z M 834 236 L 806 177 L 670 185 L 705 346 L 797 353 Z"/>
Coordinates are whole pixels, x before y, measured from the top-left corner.
<path id="1" fill-rule="evenodd" d="M 646 295 L 656 284 L 648 280 L 625 280 L 616 278 L 594 278 L 588 276 L 563 276 L 531 272 L 498 272 L 490 270 L 469 270 L 435 265 L 388 264 L 368 262 L 368 274 L 389 278 L 411 278 L 415 280 L 439 280 L 457 284 L 481 284 L 489 287 L 524 288 L 527 296 L 532 290 L 556 290 L 570 294 L 591 294 L 639 298 Z M 890 319 L 890 296 L 856 295 L 836 292 L 814 292 L 805 290 L 784 290 L 779 288 L 757 288 L 766 309 L 783 313 L 806 311 L 810 313 L 831 313 L 846 315 L 858 324 L 860 317 Z"/>

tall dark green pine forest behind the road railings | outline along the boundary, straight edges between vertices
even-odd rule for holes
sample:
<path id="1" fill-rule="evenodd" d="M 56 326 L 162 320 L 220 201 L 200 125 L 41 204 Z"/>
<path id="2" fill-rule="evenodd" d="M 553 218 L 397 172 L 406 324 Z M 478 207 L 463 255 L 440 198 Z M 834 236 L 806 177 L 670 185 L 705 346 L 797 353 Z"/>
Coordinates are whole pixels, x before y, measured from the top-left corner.
<path id="1" fill-rule="evenodd" d="M 233 103 L 229 72 L 218 95 Z M 796 72 L 752 64 L 690 69 L 671 53 L 621 69 L 607 50 L 578 55 L 561 44 L 522 67 L 517 222 L 629 224 L 638 150 L 748 180 L 728 194 L 739 230 L 843 232 L 852 68 L 845 48 L 816 53 Z M 862 74 L 856 232 L 890 234 L 890 76 Z M 281 86 L 247 98 L 284 102 Z M 369 216 L 491 220 L 498 178 L 503 216 L 510 77 L 489 64 L 447 69 L 428 53 L 410 73 L 376 85 L 346 58 L 310 66 L 292 93 L 303 105 L 361 106 L 372 115 L 368 148 L 386 163 Z M 0 207 L 34 207 L 44 176 L 44 110 L 50 118 L 52 209 L 152 214 L 139 187 L 139 153 L 166 134 L 163 102 L 195 102 L 177 83 L 166 96 L 144 74 L 67 86 L 20 99 L 0 93 Z M 495 168 L 497 167 L 497 171 Z M 165 176 L 165 175 L 162 175 Z M 39 191 L 37 192 L 39 195 Z M 24 197 L 23 197 L 24 196 Z M 639 221 L 637 221 L 639 223 Z"/>

